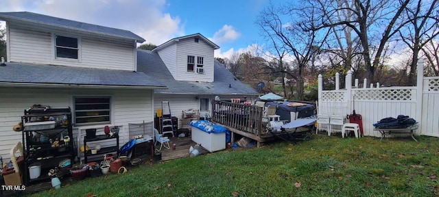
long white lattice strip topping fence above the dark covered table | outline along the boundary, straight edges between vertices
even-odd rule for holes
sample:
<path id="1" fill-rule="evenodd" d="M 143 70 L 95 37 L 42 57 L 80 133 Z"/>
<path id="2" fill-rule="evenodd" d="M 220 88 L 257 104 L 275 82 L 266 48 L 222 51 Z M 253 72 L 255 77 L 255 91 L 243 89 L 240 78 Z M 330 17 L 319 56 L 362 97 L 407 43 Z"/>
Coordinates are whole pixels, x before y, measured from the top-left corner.
<path id="1" fill-rule="evenodd" d="M 399 100 L 412 101 L 412 90 L 396 89 L 396 90 L 357 90 L 355 91 L 355 99 L 358 100 Z"/>

